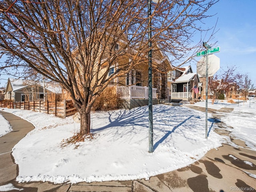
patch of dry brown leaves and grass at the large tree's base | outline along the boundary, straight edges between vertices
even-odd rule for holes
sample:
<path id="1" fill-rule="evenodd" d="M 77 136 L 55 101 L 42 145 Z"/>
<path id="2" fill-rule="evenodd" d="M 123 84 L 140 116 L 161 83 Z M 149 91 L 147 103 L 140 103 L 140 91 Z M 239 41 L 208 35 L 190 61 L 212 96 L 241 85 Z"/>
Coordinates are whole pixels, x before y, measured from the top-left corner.
<path id="1" fill-rule="evenodd" d="M 61 147 L 66 147 L 68 145 L 75 145 L 75 148 L 78 148 L 78 142 L 84 142 L 85 140 L 93 140 L 97 134 L 95 133 L 88 133 L 83 136 L 80 136 L 79 133 L 74 134 L 74 136 L 62 140 Z"/>

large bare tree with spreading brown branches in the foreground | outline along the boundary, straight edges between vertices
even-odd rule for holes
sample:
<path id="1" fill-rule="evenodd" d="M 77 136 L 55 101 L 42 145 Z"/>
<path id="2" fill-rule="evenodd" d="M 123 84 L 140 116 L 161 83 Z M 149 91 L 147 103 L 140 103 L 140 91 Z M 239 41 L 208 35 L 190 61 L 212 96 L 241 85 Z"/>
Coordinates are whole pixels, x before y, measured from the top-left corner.
<path id="1" fill-rule="evenodd" d="M 90 110 L 114 79 L 148 62 L 148 20 L 152 47 L 171 62 L 187 62 L 201 45 L 191 38 L 203 29 L 206 11 L 218 0 L 4 0 L 0 2 L 2 70 L 32 69 L 60 83 L 80 113 L 80 135 L 90 133 Z M 194 53 L 190 53 L 190 50 Z M 154 63 L 157 69 L 162 63 Z M 110 69 L 116 70 L 110 73 Z M 25 71 L 26 71 L 25 70 Z M 8 71 L 6 71 L 8 72 Z M 25 72 L 26 75 L 26 72 Z"/>

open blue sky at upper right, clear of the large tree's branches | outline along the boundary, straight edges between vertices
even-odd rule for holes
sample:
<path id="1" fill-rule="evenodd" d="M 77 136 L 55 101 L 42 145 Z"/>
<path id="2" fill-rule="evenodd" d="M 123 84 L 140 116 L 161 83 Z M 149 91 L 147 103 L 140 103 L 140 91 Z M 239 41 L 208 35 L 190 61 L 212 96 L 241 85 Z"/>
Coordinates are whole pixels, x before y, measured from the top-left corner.
<path id="1" fill-rule="evenodd" d="M 207 20 L 209 28 L 218 19 L 212 43 L 217 41 L 214 47 L 220 47 L 215 54 L 220 58 L 220 68 L 235 65 L 240 73 L 248 74 L 256 87 L 256 0 L 220 0 L 208 14 L 216 14 Z M 192 68 L 196 72 L 196 64 Z"/>

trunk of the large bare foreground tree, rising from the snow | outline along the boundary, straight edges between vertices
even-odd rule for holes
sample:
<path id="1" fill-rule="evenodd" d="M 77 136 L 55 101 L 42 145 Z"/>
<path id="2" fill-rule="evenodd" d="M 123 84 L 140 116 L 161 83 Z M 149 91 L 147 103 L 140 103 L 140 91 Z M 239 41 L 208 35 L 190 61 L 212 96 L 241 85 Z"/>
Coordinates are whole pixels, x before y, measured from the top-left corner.
<path id="1" fill-rule="evenodd" d="M 86 111 L 86 112 L 85 112 Z M 91 119 L 90 119 L 90 110 L 82 110 L 80 112 L 80 136 L 90 133 L 91 131 Z"/>

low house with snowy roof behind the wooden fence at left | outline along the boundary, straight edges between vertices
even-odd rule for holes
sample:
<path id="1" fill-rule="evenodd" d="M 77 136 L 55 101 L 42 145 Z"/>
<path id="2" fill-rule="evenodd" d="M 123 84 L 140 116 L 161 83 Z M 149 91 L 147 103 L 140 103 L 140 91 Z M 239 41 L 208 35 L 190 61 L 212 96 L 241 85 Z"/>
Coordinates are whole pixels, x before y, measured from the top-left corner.
<path id="1" fill-rule="evenodd" d="M 19 101 L 33 101 L 55 99 L 56 94 L 62 94 L 62 88 L 54 83 L 35 82 L 8 78 L 4 99 Z"/>

